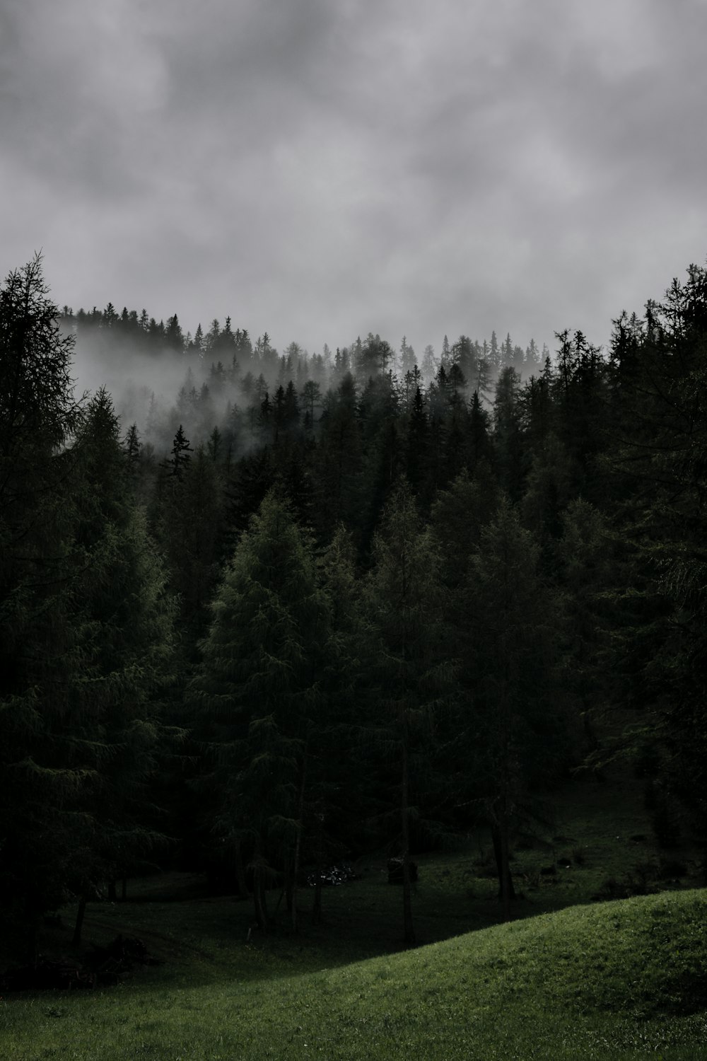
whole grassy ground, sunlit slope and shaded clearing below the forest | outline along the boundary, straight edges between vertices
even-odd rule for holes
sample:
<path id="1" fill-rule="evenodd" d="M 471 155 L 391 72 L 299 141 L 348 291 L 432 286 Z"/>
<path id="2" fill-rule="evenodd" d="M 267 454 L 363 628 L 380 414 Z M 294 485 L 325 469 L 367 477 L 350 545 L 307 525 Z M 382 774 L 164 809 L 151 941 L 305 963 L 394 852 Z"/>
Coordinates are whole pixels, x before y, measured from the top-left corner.
<path id="1" fill-rule="evenodd" d="M 575 787 L 561 805 L 548 835 L 516 854 L 525 898 L 508 924 L 496 923 L 483 842 L 420 858 L 425 945 L 414 951 L 400 951 L 401 894 L 383 859 L 326 890 L 321 925 L 308 923 L 303 892 L 297 936 L 283 917 L 248 938 L 249 904 L 205 897 L 195 877 L 131 882 L 132 901 L 89 908 L 86 938 L 137 935 L 164 963 L 116 988 L 8 996 L 0 1057 L 707 1058 L 707 892 L 689 887 L 694 852 L 671 853 L 682 885 L 660 880 L 630 782 Z M 587 905 L 607 881 L 655 892 Z M 48 949 L 69 953 L 69 936 L 68 923 L 48 930 Z"/>

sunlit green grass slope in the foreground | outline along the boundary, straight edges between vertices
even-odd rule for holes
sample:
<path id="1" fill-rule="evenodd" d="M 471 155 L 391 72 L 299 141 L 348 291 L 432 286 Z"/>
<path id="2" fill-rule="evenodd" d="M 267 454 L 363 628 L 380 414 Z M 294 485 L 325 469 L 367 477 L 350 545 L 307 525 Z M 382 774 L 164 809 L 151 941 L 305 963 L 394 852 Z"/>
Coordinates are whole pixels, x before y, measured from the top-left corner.
<path id="1" fill-rule="evenodd" d="M 576 907 L 332 966 L 311 939 L 246 943 L 223 902 L 111 912 L 93 928 L 147 929 L 170 964 L 110 990 L 7 999 L 3 1058 L 705 1056 L 703 891 Z M 190 922 L 198 947 L 184 939 Z"/>

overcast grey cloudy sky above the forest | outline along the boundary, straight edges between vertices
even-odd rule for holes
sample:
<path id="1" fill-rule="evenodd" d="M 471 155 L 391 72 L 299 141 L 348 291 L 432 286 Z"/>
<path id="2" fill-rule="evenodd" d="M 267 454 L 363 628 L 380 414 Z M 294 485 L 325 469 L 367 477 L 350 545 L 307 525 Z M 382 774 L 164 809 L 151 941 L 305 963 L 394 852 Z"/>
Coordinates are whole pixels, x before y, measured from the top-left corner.
<path id="1" fill-rule="evenodd" d="M 707 257 L 707 0 L 0 0 L 0 273 L 280 350 L 607 342 Z"/>

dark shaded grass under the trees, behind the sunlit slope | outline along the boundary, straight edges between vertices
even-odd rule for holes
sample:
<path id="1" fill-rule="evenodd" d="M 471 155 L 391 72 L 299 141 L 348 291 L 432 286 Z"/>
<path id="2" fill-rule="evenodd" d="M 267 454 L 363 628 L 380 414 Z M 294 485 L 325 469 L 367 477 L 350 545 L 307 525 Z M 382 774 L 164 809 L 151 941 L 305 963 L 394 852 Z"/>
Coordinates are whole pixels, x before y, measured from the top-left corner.
<path id="1" fill-rule="evenodd" d="M 625 775 L 611 784 L 575 782 L 558 794 L 556 805 L 550 834 L 516 851 L 512 869 L 523 898 L 513 903 L 513 921 L 589 903 L 602 882 L 624 879 L 637 858 L 659 860 L 640 784 Z M 502 922 L 488 837 L 474 834 L 460 839 L 454 852 L 416 859 L 420 881 L 413 917 L 420 945 Z M 548 863 L 556 871 L 543 875 Z M 84 938 L 105 944 L 118 933 L 137 936 L 163 960 L 159 969 L 137 973 L 130 990 L 157 982 L 270 980 L 340 968 L 403 950 L 402 893 L 387 883 L 385 865 L 385 858 L 366 859 L 358 880 L 325 888 L 323 922 L 317 926 L 311 919 L 314 893 L 301 889 L 297 935 L 288 928 L 284 900 L 264 934 L 254 927 L 250 901 L 214 897 L 194 873 L 163 873 L 129 882 L 127 902 L 91 904 Z M 278 900 L 271 891 L 271 911 Z M 74 915 L 67 909 L 64 926 L 48 929 L 46 947 L 41 943 L 48 955 L 71 953 Z"/>

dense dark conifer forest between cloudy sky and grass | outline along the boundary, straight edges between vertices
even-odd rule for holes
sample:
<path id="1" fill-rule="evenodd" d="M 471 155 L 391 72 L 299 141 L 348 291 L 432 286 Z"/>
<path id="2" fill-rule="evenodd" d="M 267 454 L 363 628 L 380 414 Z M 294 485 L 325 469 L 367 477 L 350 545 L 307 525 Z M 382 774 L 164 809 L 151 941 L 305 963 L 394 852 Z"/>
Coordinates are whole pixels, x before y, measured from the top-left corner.
<path id="1" fill-rule="evenodd" d="M 77 363 L 105 386 L 81 394 Z M 152 382 L 145 383 L 145 380 Z M 158 867 L 510 853 L 613 764 L 707 843 L 707 269 L 607 349 L 378 335 L 308 354 L 214 320 L 0 291 L 0 921 Z M 320 886 L 314 915 L 320 909 Z M 307 904 L 308 909 L 312 903 Z"/>

